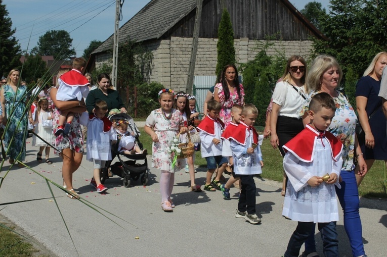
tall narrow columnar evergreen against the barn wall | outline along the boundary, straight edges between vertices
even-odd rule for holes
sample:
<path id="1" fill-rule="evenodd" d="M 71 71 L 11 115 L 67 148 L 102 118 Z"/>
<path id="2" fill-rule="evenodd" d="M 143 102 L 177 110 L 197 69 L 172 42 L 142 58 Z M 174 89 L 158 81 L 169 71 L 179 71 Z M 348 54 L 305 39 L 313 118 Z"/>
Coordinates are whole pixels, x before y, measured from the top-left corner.
<path id="1" fill-rule="evenodd" d="M 230 14 L 226 9 L 222 12 L 221 22 L 218 29 L 218 63 L 216 75 L 219 81 L 221 72 L 228 64 L 235 64 L 235 48 L 234 48 L 234 30 L 231 24 Z"/>

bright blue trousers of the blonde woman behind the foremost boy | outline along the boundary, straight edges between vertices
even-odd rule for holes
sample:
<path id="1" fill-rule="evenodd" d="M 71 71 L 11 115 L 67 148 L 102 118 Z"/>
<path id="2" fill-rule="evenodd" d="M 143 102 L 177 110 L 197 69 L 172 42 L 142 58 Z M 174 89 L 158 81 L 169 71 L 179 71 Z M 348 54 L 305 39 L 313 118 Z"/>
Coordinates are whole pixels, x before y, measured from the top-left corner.
<path id="1" fill-rule="evenodd" d="M 344 228 L 351 243 L 352 255 L 364 255 L 362 222 L 360 220 L 359 191 L 355 171 L 341 171 L 341 189 L 336 187 L 336 194 L 344 213 Z M 314 233 L 305 241 L 305 253 L 316 251 Z"/>

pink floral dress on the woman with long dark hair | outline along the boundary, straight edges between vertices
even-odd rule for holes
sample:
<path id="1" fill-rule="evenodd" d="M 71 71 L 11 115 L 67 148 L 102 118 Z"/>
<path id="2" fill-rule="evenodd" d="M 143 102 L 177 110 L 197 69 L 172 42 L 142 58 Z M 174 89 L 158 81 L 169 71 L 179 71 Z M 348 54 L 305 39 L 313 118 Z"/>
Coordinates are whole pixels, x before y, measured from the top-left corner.
<path id="1" fill-rule="evenodd" d="M 215 87 L 219 89 L 218 96 L 219 96 L 219 101 L 220 101 L 221 106 L 222 106 L 222 110 L 221 110 L 219 116 L 221 117 L 222 121 L 225 123 L 225 128 L 227 128 L 227 126 L 230 124 L 230 122 L 232 120 L 231 108 L 234 105 L 243 106 L 243 102 L 244 102 L 243 85 L 239 84 L 240 93 L 241 93 L 242 97 L 239 98 L 238 91 L 234 89 L 233 93 L 230 92 L 230 97 L 228 98 L 227 101 L 225 100 L 225 92 L 223 91 L 222 83 L 216 84 Z"/>

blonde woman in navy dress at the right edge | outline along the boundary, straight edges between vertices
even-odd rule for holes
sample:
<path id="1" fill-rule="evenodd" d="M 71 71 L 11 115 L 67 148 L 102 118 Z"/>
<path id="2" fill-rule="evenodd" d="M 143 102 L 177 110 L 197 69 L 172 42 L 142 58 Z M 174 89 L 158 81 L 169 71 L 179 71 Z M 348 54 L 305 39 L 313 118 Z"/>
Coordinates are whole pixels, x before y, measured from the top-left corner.
<path id="1" fill-rule="evenodd" d="M 384 160 L 387 165 L 386 123 L 378 97 L 383 69 L 387 64 L 387 52 L 377 54 L 356 85 L 356 109 L 365 132 L 365 144 L 361 145 L 368 170 L 375 160 Z M 372 115 L 373 114 L 373 115 Z M 368 117 L 372 115 L 371 119 Z M 358 167 L 355 174 L 358 174 Z M 356 176 L 358 186 L 364 176 Z"/>

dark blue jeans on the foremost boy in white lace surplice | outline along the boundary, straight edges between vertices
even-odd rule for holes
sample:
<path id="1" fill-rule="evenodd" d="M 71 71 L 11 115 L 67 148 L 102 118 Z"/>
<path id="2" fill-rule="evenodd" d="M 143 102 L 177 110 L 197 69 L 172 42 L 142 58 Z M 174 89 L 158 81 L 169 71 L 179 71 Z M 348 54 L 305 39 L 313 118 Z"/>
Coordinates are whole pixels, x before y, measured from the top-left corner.
<path id="1" fill-rule="evenodd" d="M 336 232 L 336 222 L 318 223 L 318 228 L 323 240 L 324 256 L 338 256 L 338 240 Z M 287 245 L 285 257 L 298 257 L 299 249 L 310 235 L 314 235 L 315 223 L 298 222 L 297 228 L 290 237 Z"/>

